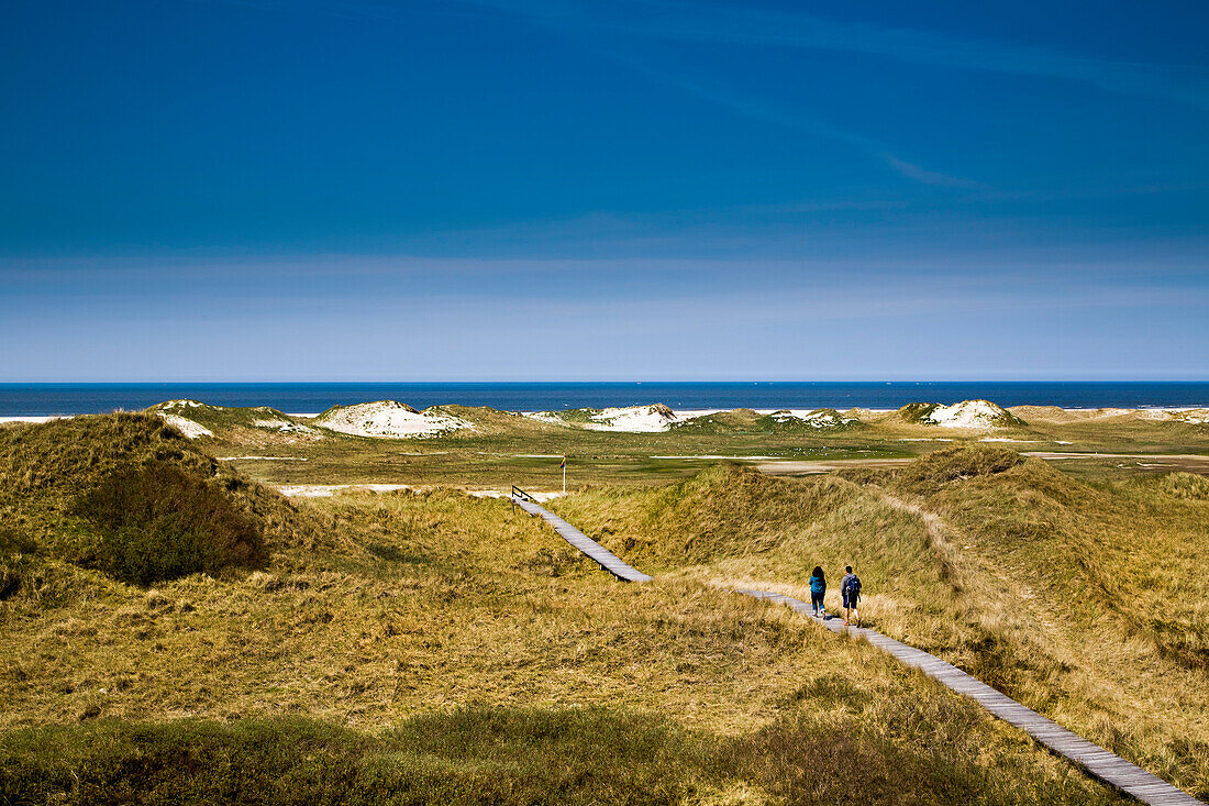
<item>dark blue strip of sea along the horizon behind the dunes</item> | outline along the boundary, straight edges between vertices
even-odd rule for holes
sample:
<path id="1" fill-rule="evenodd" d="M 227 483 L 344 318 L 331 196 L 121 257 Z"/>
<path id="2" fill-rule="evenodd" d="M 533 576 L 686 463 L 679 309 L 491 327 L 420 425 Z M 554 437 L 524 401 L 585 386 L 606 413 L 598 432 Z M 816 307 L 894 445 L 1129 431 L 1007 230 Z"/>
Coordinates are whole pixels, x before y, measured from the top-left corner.
<path id="1" fill-rule="evenodd" d="M 577 382 L 577 384 L 0 384 L 0 416 L 99 414 L 193 398 L 215 405 L 270 405 L 291 414 L 392 399 L 510 411 L 665 403 L 673 409 L 863 407 L 994 401 L 1063 408 L 1209 408 L 1209 382 Z"/>

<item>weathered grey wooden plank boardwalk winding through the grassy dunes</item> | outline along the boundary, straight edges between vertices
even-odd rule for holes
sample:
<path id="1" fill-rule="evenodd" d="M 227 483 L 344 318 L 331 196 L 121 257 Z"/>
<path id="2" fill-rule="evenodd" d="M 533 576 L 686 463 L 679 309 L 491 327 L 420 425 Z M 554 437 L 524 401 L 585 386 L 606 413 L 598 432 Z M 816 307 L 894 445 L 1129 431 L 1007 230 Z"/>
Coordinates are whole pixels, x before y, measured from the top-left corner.
<path id="1" fill-rule="evenodd" d="M 654 578 L 626 565 L 617 554 L 545 507 L 516 496 L 513 496 L 513 503 L 530 514 L 544 518 L 563 540 L 591 557 L 601 568 L 617 578 L 627 582 L 649 582 Z M 810 605 L 805 601 L 780 593 L 769 593 L 768 591 L 735 591 L 735 593 L 788 605 L 797 612 L 806 616 L 811 614 Z M 902 641 L 896 641 L 892 638 L 886 638 L 881 633 L 867 627 L 848 627 L 837 617 L 827 618 L 826 621 L 816 618 L 816 621 L 833 633 L 863 638 L 884 652 L 893 655 L 907 666 L 920 669 L 924 674 L 939 680 L 953 691 L 974 700 L 995 716 L 1019 727 L 1058 755 L 1074 761 L 1100 781 L 1133 795 L 1144 804 L 1151 804 L 1152 806 L 1204 806 L 1204 804 L 1192 795 L 1176 789 L 1158 776 L 1151 775 L 1136 764 L 1130 764 L 1109 753 L 1099 744 L 1093 744 L 1077 733 L 1072 733 L 1058 722 L 1046 719 L 1031 708 L 1022 706 L 1007 695 L 991 689 L 985 683 L 970 677 L 958 667 L 942 661 L 935 655 L 930 655 Z"/>

